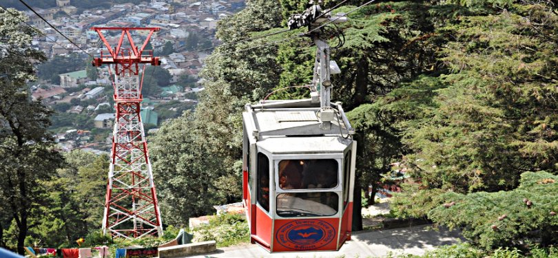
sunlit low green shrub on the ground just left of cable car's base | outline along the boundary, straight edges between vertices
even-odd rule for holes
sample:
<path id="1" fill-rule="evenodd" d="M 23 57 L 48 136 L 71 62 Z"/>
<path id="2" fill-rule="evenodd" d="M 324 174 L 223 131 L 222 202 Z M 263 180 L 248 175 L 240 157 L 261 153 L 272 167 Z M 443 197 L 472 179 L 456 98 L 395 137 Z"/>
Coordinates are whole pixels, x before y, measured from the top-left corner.
<path id="1" fill-rule="evenodd" d="M 209 219 L 209 224 L 194 228 L 194 241 L 215 240 L 218 247 L 247 243 L 250 232 L 246 219 L 238 214 L 217 215 Z"/>

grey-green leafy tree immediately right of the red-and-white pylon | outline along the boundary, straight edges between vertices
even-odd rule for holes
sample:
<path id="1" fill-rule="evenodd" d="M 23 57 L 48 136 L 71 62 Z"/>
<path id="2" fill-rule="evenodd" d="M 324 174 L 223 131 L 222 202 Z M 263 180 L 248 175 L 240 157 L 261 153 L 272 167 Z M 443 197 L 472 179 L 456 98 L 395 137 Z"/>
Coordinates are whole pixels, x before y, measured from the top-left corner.
<path id="1" fill-rule="evenodd" d="M 192 133 L 184 133 L 184 128 Z M 165 223 L 183 226 L 187 218 L 211 213 L 225 201 L 229 189 L 216 187 L 220 173 L 215 172 L 226 168 L 205 150 L 199 133 L 192 114 L 185 112 L 163 124 L 149 144 Z"/>

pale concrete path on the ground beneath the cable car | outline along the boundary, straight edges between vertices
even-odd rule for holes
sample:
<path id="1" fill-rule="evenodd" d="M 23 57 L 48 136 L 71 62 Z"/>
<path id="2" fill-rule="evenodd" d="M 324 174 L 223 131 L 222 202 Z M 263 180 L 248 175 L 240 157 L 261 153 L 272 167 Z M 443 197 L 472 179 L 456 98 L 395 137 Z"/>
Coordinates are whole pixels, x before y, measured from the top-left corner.
<path id="1" fill-rule="evenodd" d="M 248 258 L 248 257 L 385 257 L 394 254 L 422 255 L 426 250 L 437 246 L 456 244 L 465 241 L 459 231 L 440 229 L 429 230 L 431 225 L 411 226 L 389 230 L 361 231 L 353 233 L 353 240 L 345 243 L 338 251 L 331 252 L 278 252 L 270 254 L 255 244 L 242 244 L 220 248 L 205 255 L 189 256 L 196 258 Z"/>

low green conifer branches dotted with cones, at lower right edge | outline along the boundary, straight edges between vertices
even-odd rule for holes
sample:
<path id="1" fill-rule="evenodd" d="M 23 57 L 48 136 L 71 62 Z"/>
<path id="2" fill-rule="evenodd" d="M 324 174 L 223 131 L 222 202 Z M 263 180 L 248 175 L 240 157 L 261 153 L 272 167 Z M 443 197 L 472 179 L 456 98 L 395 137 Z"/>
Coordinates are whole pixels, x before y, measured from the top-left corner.
<path id="1" fill-rule="evenodd" d="M 428 212 L 428 218 L 462 228 L 464 237 L 487 250 L 535 242 L 547 246 L 557 241 L 558 216 L 551 214 L 558 210 L 557 181 L 558 176 L 550 173 L 526 172 L 513 191 L 445 193 L 437 201 L 455 205 L 439 204 Z"/>

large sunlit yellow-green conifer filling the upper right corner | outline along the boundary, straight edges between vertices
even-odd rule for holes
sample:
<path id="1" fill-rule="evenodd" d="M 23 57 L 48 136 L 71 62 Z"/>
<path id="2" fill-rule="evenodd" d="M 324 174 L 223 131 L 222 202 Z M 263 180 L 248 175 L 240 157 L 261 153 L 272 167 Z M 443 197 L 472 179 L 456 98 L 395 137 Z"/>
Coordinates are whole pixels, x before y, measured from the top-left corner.
<path id="1" fill-rule="evenodd" d="M 448 70 L 433 78 L 442 87 L 428 94 L 428 113 L 401 121 L 402 140 L 414 150 L 406 159 L 426 189 L 511 190 L 524 171 L 558 169 L 550 123 L 557 70 L 545 68 L 557 61 L 558 41 L 548 30 L 558 19 L 549 2 L 504 7 L 492 15 L 483 8 L 437 32 L 453 39 L 440 53 Z M 519 9 L 528 12 L 508 12 Z"/>

